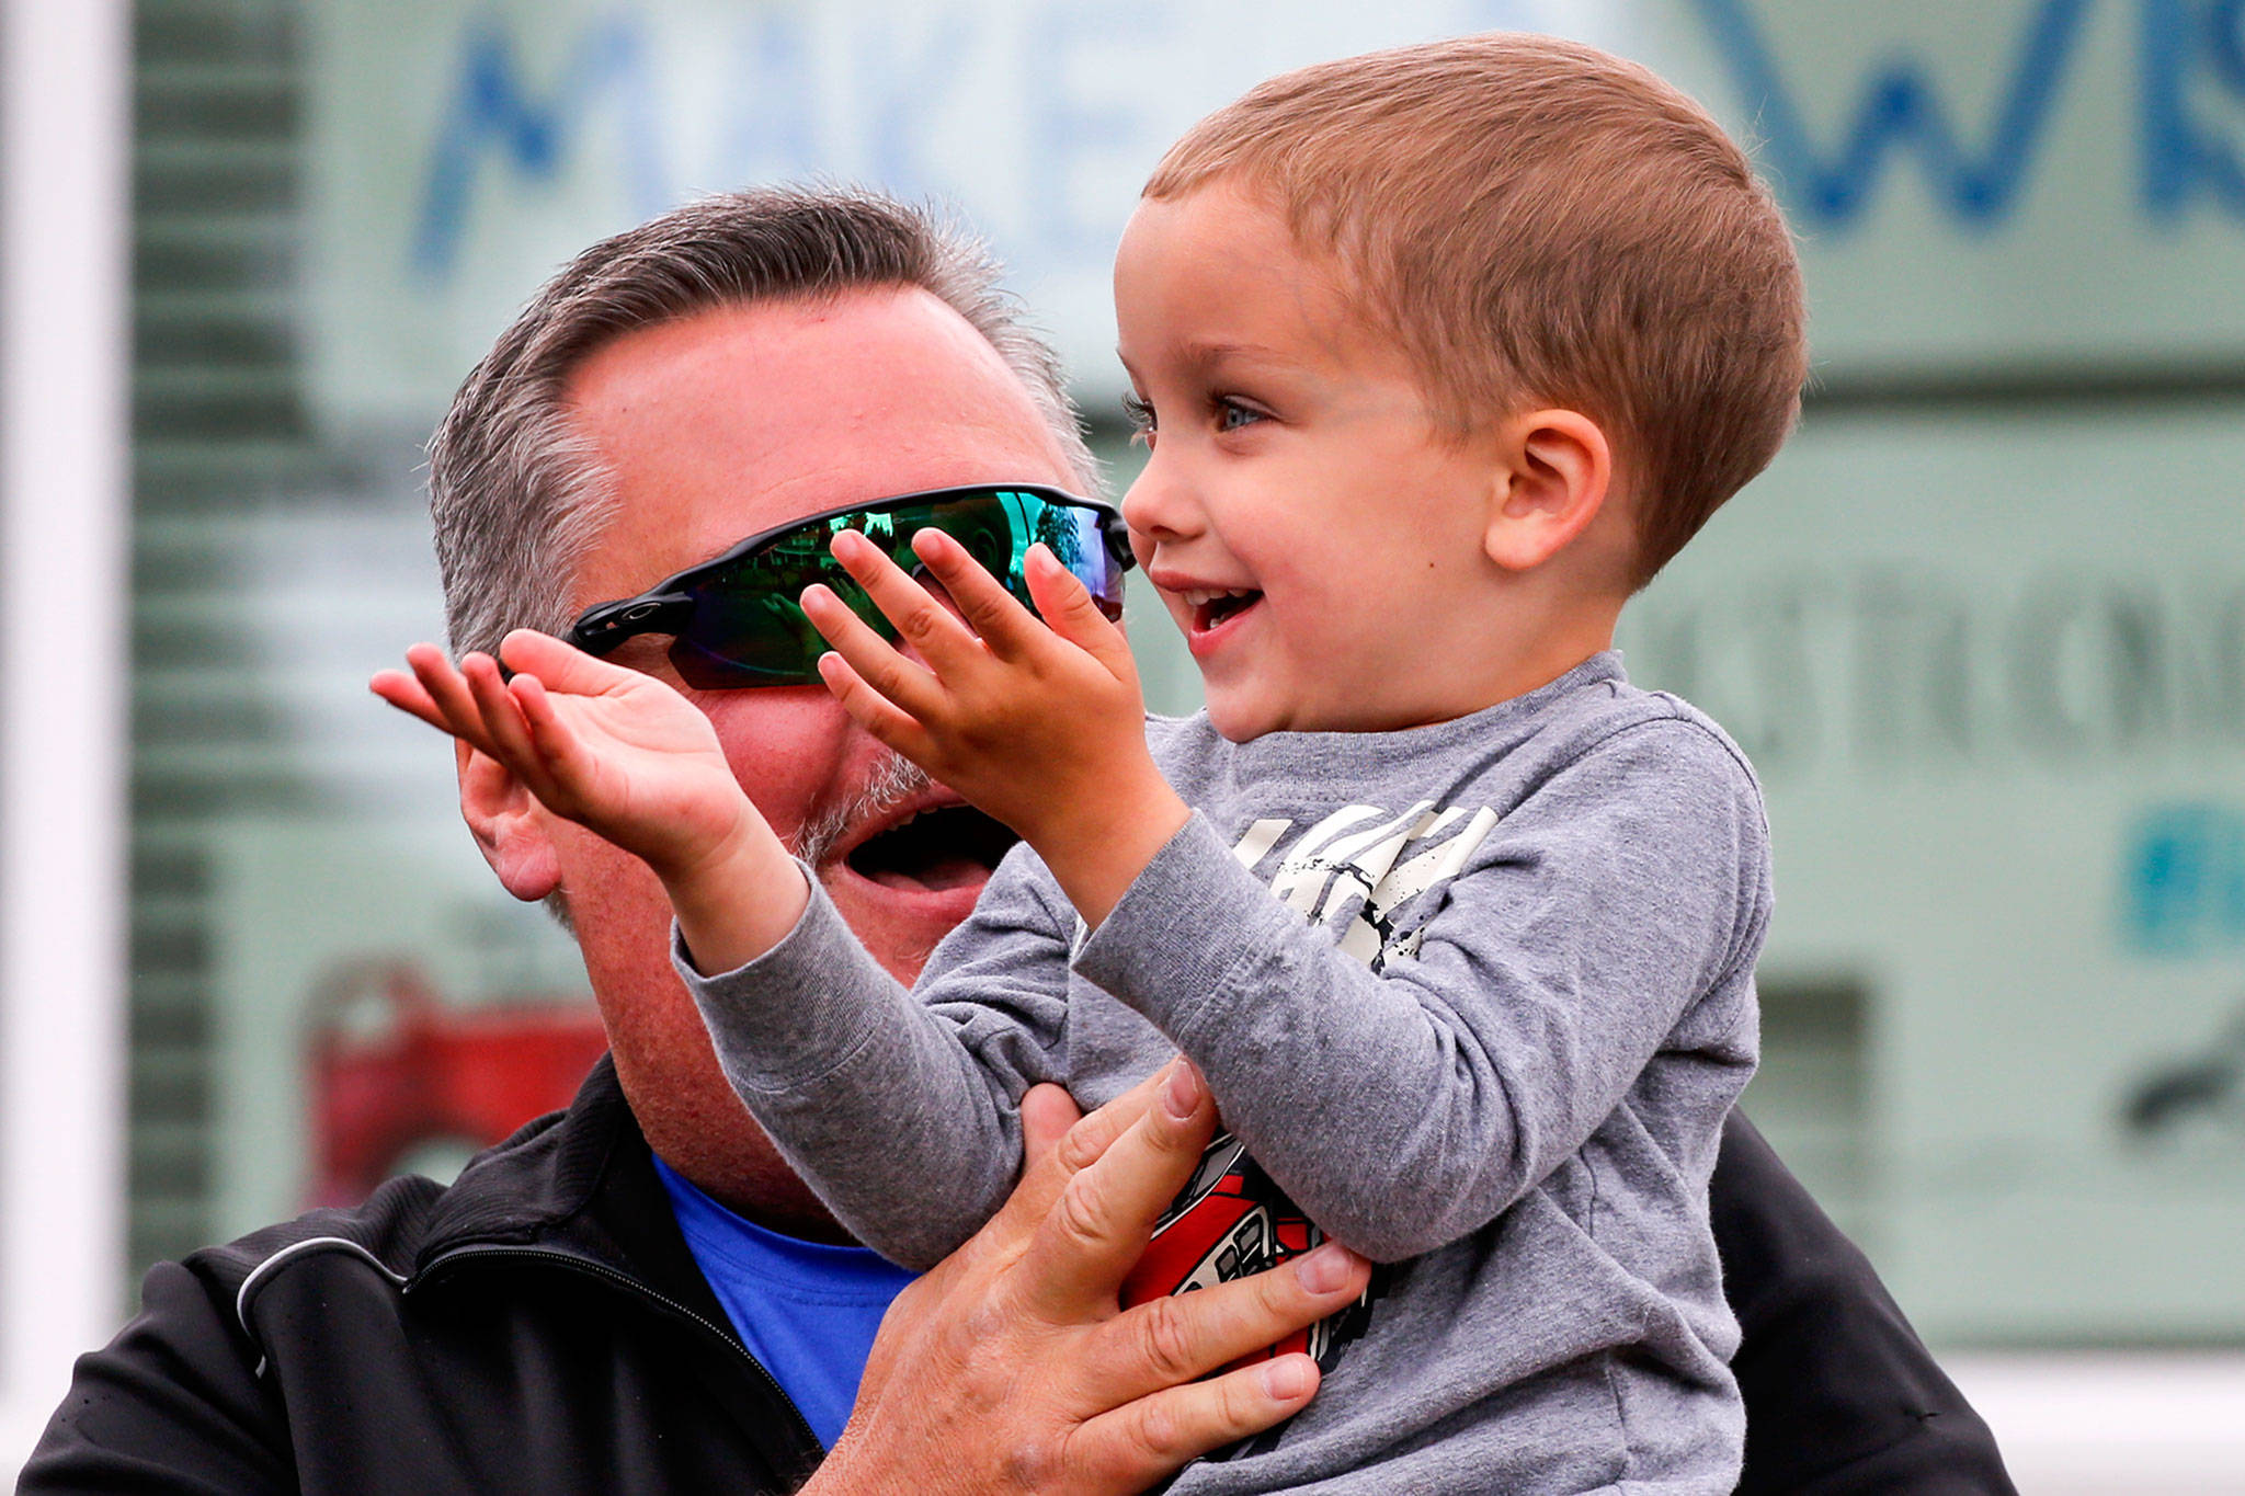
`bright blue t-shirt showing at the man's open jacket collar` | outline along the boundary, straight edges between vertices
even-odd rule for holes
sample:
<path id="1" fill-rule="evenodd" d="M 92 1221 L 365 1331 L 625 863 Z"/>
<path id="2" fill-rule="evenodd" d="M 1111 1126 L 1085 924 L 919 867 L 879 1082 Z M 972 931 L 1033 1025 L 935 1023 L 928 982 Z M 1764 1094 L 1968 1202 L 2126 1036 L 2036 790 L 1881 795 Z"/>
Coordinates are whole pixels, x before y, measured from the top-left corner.
<path id="1" fill-rule="evenodd" d="M 909 1272 L 867 1247 L 806 1243 L 741 1220 L 656 1160 L 709 1292 L 828 1449 L 849 1422 L 864 1357 Z"/>

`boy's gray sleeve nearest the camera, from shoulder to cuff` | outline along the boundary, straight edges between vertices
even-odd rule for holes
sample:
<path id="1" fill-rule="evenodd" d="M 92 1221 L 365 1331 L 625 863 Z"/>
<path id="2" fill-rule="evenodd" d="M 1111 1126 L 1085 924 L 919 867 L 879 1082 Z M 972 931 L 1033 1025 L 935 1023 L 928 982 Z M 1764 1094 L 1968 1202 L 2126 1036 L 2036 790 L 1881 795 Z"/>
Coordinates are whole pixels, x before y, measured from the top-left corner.
<path id="1" fill-rule="evenodd" d="M 1713 733 L 1637 724 L 1506 814 L 1446 888 L 1417 958 L 1374 973 L 1194 816 L 1075 967 L 1201 1065 L 1311 1220 L 1396 1260 L 1533 1189 L 1753 960 L 1760 794 Z"/>

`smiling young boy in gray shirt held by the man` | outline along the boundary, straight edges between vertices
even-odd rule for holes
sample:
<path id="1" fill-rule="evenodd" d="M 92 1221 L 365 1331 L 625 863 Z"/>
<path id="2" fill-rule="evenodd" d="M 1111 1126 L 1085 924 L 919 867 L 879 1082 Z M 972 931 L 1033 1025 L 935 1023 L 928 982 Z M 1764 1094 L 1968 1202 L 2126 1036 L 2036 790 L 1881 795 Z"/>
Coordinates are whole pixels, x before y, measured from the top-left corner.
<path id="1" fill-rule="evenodd" d="M 1201 121 L 1116 305 L 1152 449 L 1122 514 L 1206 713 L 1147 731 L 1051 550 L 1039 624 L 938 523 L 911 556 L 956 612 L 837 534 L 911 655 L 804 594 L 851 715 L 1026 841 L 918 994 L 658 682 L 516 635 L 512 686 L 418 650 L 427 691 L 386 695 L 653 864 L 727 1074 L 880 1252 L 927 1265 L 995 1209 L 1033 1081 L 1089 1106 L 1181 1050 L 1237 1139 L 1181 1207 L 1233 1213 L 1163 1287 L 1309 1245 L 1277 1191 L 1399 1265 L 1284 1435 L 1174 1489 L 1729 1492 L 1706 1180 L 1767 830 L 1738 749 L 1610 644 L 1796 415 L 1776 206 L 1634 65 L 1435 43 Z"/>

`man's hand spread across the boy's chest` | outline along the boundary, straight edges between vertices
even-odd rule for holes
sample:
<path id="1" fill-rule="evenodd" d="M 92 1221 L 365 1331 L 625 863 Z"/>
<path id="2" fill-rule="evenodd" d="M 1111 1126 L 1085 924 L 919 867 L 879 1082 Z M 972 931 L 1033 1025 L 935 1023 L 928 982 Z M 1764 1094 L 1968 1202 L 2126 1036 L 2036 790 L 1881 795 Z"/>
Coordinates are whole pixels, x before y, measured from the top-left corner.
<path id="1" fill-rule="evenodd" d="M 1122 1276 L 1215 1135 L 1190 1065 L 1082 1121 L 1066 1092 L 1039 1086 L 1021 1126 L 1021 1186 L 891 1305 L 849 1426 L 804 1496 L 1143 1492 L 1316 1391 L 1307 1355 L 1197 1377 L 1356 1299 L 1369 1265 L 1338 1245 L 1116 1310 Z"/>

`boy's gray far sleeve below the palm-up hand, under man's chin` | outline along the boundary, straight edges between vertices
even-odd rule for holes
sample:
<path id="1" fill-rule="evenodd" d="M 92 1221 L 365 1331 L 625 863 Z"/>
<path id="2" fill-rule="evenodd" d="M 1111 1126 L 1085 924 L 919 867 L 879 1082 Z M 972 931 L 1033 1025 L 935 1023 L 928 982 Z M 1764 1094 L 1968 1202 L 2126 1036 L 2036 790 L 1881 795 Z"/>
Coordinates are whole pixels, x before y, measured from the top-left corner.
<path id="1" fill-rule="evenodd" d="M 927 1269 L 1006 1200 L 1019 1097 L 1057 1079 L 1073 913 L 1017 848 L 911 991 L 810 884 L 786 940 L 700 976 L 671 958 L 718 1063 L 788 1166 L 858 1240 Z"/>

